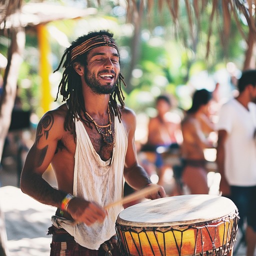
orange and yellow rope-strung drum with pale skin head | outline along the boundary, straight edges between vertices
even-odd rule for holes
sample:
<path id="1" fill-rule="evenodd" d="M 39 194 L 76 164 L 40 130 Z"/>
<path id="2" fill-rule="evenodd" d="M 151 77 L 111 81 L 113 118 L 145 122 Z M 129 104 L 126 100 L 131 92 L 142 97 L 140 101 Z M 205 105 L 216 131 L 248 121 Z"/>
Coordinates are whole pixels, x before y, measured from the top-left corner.
<path id="1" fill-rule="evenodd" d="M 198 194 L 144 201 L 115 223 L 123 255 L 232 255 L 238 211 L 226 197 Z"/>

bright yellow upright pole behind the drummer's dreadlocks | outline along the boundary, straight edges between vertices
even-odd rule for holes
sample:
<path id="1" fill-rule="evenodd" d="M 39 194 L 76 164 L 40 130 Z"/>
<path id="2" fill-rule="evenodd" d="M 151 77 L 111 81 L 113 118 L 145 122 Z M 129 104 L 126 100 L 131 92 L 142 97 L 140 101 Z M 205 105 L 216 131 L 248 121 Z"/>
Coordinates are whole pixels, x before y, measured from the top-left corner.
<path id="1" fill-rule="evenodd" d="M 41 111 L 44 113 L 50 109 L 50 103 L 52 102 L 49 82 L 49 74 L 51 71 L 51 65 L 49 61 L 50 44 L 48 41 L 49 35 L 46 25 L 39 24 L 37 26 L 37 33 L 40 53 L 39 70 L 41 76 Z"/>

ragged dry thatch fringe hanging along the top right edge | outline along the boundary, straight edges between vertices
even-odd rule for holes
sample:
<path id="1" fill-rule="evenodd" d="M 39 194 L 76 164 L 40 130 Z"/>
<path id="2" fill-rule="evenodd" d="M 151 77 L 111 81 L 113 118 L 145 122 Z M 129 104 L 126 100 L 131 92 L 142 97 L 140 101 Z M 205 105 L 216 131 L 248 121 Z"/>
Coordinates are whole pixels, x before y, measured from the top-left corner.
<path id="1" fill-rule="evenodd" d="M 241 19 L 245 18 L 247 21 L 250 33 L 254 34 L 256 40 L 256 15 L 255 15 L 255 1 L 253 0 L 127 0 L 127 21 L 132 22 L 136 15 L 140 15 L 141 8 L 147 12 L 147 17 L 150 19 L 151 12 L 155 5 L 159 10 L 159 15 L 163 9 L 168 9 L 170 18 L 172 19 L 176 30 L 182 28 L 179 23 L 181 5 L 185 4 L 188 23 L 190 26 L 190 38 L 193 42 L 196 41 L 196 33 L 194 31 L 200 30 L 201 13 L 206 11 L 211 6 L 211 14 L 208 23 L 208 42 L 207 51 L 209 50 L 209 39 L 212 33 L 211 24 L 213 19 L 217 18 L 219 27 L 219 36 L 223 44 L 226 44 L 230 34 L 231 18 L 236 22 L 237 29 L 242 37 L 247 41 L 247 34 L 241 28 Z"/>

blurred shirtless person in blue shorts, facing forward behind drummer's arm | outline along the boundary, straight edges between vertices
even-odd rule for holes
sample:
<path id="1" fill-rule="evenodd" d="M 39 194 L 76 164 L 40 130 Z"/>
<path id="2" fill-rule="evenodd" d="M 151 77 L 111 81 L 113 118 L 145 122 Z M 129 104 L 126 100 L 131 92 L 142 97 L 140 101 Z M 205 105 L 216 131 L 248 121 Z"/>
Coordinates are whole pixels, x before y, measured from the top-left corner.
<path id="1" fill-rule="evenodd" d="M 157 115 L 149 119 L 147 143 L 141 148 L 141 151 L 154 152 L 154 164 L 159 176 L 158 184 L 164 183 L 165 170 L 170 167 L 164 164 L 159 147 L 163 147 L 163 151 L 177 149 L 182 141 L 181 118 L 178 114 L 170 112 L 171 106 L 167 95 L 156 98 Z"/>

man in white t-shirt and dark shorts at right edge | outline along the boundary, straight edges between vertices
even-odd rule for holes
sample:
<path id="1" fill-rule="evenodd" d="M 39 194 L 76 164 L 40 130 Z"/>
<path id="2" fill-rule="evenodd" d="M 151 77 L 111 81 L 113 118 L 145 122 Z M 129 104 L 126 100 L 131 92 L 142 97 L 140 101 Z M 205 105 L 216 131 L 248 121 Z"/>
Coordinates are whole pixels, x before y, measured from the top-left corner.
<path id="1" fill-rule="evenodd" d="M 247 256 L 256 244 L 256 70 L 242 72 L 239 95 L 222 105 L 217 123 L 219 190 L 236 204 L 239 226 L 246 225 Z"/>

